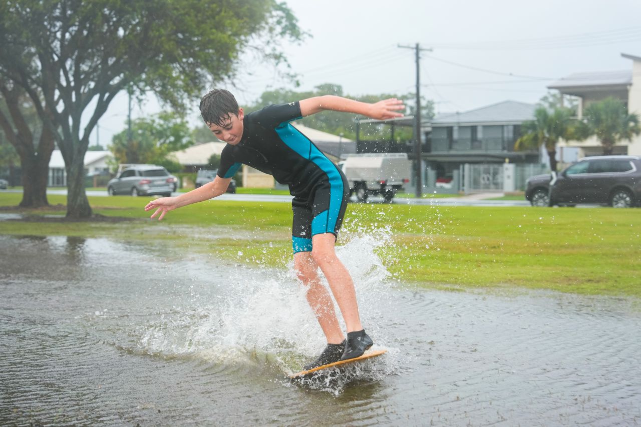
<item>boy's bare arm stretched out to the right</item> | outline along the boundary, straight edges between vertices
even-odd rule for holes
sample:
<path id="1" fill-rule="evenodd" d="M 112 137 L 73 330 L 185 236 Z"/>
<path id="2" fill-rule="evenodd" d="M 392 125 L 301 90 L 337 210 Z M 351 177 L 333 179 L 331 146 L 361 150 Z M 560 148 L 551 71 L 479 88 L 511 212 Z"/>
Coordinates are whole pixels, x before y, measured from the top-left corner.
<path id="1" fill-rule="evenodd" d="M 403 101 L 396 98 L 383 99 L 378 101 L 378 103 L 370 104 L 334 95 L 315 96 L 303 99 L 303 101 L 299 102 L 299 105 L 303 117 L 323 110 L 332 110 L 362 114 L 379 120 L 403 117 L 403 113 L 399 113 L 399 110 L 404 110 L 405 108 Z"/>

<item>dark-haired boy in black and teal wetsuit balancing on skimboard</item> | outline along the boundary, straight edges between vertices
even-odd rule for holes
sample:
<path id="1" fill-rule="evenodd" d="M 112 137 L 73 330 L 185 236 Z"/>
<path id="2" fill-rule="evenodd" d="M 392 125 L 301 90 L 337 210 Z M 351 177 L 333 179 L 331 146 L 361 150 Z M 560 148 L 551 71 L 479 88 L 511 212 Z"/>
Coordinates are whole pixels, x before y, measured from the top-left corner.
<path id="1" fill-rule="evenodd" d="M 402 117 L 397 110 L 403 108 L 403 101 L 398 99 L 369 104 L 338 96 L 318 96 L 245 114 L 230 92 L 214 89 L 201 99 L 200 110 L 213 134 L 227 142 L 216 178 L 181 196 L 163 197 L 145 206 L 145 210 L 156 209 L 151 217 L 160 214 L 161 220 L 170 210 L 220 196 L 243 163 L 289 186 L 294 196 L 294 269 L 306 287 L 306 298 L 328 342 L 319 358 L 304 366 L 305 370 L 361 356 L 374 343 L 363 330 L 354 283 L 334 248 L 349 186 L 343 172 L 290 121 L 322 110 L 390 119 Z M 319 267 L 345 320 L 347 339 L 338 324 L 331 297 L 320 283 Z"/>

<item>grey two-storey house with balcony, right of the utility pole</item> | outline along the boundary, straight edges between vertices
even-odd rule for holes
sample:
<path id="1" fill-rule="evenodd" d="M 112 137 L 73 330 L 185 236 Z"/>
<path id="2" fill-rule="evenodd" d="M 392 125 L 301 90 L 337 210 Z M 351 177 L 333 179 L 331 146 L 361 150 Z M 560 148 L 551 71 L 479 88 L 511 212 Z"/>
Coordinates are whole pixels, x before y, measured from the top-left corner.
<path id="1" fill-rule="evenodd" d="M 444 113 L 431 122 L 422 158 L 437 179 L 450 179 L 465 163 L 539 163 L 538 150 L 515 151 L 521 126 L 534 119 L 534 104 L 503 101 L 466 112 Z"/>

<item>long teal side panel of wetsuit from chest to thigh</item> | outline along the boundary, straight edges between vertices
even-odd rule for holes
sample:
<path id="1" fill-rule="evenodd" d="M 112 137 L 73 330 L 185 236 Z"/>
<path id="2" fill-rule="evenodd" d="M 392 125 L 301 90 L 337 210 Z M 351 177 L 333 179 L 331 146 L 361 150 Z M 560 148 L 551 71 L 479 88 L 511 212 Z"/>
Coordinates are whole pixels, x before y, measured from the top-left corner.
<path id="1" fill-rule="evenodd" d="M 325 172 L 329 179 L 329 208 L 312 219 L 312 236 L 320 233 L 334 233 L 343 201 L 343 179 L 336 166 L 289 122 L 279 124 L 276 128 L 281 140 L 296 151 L 298 155 L 315 163 Z M 322 215 L 326 215 L 323 217 Z M 324 220 L 327 221 L 324 221 Z"/>

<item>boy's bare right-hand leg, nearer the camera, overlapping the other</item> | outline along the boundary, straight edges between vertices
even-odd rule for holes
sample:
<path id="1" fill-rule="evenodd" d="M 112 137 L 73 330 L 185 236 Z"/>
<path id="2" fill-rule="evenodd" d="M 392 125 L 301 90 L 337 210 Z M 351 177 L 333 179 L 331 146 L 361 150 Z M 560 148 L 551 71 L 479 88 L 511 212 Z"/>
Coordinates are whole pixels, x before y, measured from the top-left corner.
<path id="1" fill-rule="evenodd" d="M 333 233 L 317 234 L 312 237 L 312 258 L 323 272 L 331 292 L 343 315 L 347 332 L 360 331 L 363 326 L 358 314 L 356 291 L 349 271 L 336 256 L 336 237 Z"/>

